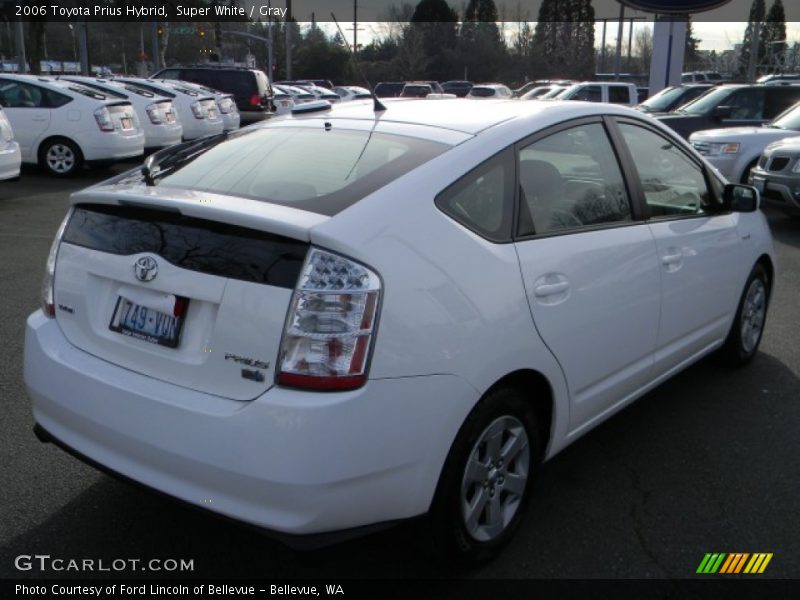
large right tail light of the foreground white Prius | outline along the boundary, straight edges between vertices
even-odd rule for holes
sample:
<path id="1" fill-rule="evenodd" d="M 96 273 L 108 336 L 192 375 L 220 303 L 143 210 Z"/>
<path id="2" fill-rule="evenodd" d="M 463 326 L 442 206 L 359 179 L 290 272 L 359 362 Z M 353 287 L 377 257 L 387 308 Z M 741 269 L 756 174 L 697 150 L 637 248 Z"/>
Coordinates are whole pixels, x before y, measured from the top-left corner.
<path id="1" fill-rule="evenodd" d="M 349 390 L 367 380 L 378 319 L 378 275 L 348 258 L 314 248 L 300 275 L 280 350 L 278 383 Z"/>

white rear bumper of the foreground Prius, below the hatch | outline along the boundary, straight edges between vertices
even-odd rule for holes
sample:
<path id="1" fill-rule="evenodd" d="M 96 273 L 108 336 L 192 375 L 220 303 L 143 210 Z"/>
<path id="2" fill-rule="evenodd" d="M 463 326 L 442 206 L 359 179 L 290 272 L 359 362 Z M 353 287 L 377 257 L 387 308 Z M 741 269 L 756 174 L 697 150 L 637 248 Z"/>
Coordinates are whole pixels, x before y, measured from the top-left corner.
<path id="1" fill-rule="evenodd" d="M 425 513 L 477 393 L 446 375 L 351 392 L 274 387 L 252 402 L 139 375 L 28 318 L 36 422 L 105 469 L 227 517 L 307 535 Z"/>

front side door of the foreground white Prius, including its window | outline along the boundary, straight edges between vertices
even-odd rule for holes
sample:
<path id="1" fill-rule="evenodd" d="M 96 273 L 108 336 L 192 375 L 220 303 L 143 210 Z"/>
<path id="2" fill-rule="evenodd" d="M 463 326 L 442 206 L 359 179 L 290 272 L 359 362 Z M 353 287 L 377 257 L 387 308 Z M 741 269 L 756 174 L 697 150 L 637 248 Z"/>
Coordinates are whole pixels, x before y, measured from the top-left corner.
<path id="1" fill-rule="evenodd" d="M 728 333 L 741 292 L 737 216 L 722 211 L 722 184 L 683 144 L 640 121 L 617 124 L 658 248 L 662 300 L 654 374 L 663 374 Z"/>

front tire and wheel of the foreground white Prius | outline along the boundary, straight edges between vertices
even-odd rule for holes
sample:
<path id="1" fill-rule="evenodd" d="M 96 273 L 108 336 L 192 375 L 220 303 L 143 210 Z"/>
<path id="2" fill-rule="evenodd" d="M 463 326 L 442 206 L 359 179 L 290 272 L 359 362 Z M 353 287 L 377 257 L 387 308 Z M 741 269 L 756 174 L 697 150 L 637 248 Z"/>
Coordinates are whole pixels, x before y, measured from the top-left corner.
<path id="1" fill-rule="evenodd" d="M 719 357 L 723 363 L 740 367 L 756 355 L 764 334 L 769 296 L 769 274 L 764 265 L 756 263 L 744 285 L 728 337 L 720 348 Z"/>

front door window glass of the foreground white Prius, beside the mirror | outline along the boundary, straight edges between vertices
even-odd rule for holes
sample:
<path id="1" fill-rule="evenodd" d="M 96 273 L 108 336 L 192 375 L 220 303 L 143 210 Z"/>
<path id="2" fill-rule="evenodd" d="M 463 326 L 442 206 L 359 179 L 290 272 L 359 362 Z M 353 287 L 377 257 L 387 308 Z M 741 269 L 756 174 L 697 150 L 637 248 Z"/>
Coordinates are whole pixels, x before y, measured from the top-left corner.
<path id="1" fill-rule="evenodd" d="M 620 123 L 651 217 L 695 216 L 712 210 L 703 169 L 674 142 L 650 129 Z"/>

